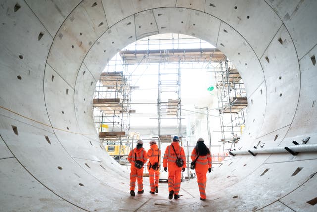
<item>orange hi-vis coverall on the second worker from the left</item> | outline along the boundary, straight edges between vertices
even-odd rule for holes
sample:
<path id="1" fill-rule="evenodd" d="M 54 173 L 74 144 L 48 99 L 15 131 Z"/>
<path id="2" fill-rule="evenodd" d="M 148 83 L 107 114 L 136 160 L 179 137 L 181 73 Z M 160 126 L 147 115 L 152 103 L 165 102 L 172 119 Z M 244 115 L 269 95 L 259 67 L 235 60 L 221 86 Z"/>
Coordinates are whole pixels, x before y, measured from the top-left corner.
<path id="1" fill-rule="evenodd" d="M 159 187 L 159 170 L 154 170 L 150 168 L 150 163 L 153 165 L 154 163 L 160 163 L 160 151 L 157 144 L 152 144 L 151 148 L 148 151 L 148 171 L 149 171 L 149 180 L 150 180 L 150 190 L 154 192 L 155 187 Z M 155 182 L 154 182 L 155 179 Z"/>

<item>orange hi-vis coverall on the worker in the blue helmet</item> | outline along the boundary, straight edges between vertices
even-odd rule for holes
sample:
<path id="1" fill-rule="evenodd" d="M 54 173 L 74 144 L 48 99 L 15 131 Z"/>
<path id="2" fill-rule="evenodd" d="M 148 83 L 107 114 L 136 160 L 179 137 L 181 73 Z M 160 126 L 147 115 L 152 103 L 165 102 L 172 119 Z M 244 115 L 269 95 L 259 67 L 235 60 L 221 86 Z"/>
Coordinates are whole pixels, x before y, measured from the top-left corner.
<path id="1" fill-rule="evenodd" d="M 172 145 L 175 148 L 177 157 L 183 159 L 183 167 L 178 167 L 176 165 L 177 157 Z M 186 168 L 186 157 L 184 149 L 179 146 L 178 142 L 172 142 L 172 145 L 167 146 L 165 150 L 163 166 L 167 167 L 168 164 L 168 191 L 174 190 L 174 194 L 178 194 L 180 190 L 182 168 Z"/>

